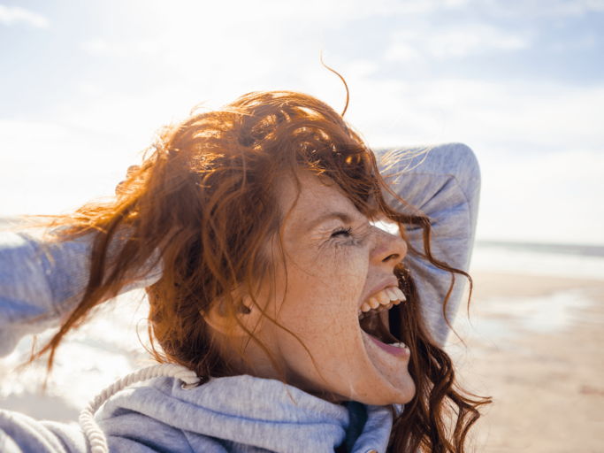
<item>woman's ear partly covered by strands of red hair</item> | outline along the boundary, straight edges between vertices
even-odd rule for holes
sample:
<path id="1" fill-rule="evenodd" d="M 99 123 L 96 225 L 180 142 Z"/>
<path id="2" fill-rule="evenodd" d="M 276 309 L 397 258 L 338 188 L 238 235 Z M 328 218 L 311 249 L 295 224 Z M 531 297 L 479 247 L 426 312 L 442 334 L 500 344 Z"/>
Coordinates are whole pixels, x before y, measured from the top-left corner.
<path id="1" fill-rule="evenodd" d="M 234 316 L 249 332 L 258 333 L 262 329 L 262 311 L 252 301 L 252 297 L 247 294 L 241 295 L 238 290 L 233 290 L 231 296 L 235 306 Z M 233 314 L 226 310 L 226 303 L 222 297 L 212 305 L 209 311 L 203 312 L 202 316 L 205 322 L 220 334 L 248 336 L 246 329 L 236 319 L 233 319 Z"/>

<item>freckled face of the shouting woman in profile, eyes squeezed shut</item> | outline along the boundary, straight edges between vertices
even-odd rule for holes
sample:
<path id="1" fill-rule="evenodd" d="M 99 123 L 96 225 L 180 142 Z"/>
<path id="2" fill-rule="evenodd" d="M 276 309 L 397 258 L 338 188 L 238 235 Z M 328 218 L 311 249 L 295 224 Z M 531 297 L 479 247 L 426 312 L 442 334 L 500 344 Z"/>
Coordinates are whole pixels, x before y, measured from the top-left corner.
<path id="1" fill-rule="evenodd" d="M 269 247 L 275 280 L 257 297 L 299 340 L 266 319 L 256 333 L 295 387 L 335 401 L 408 403 L 415 394 L 409 349 L 387 346 L 398 340 L 387 330 L 392 305 L 385 298 L 402 298 L 393 290 L 394 266 L 407 252 L 405 242 L 372 226 L 333 180 L 303 171 L 299 178 L 297 202 L 294 181 L 279 181 L 285 265 L 275 239 L 272 254 Z M 360 313 L 380 300 L 381 313 L 361 322 Z"/>

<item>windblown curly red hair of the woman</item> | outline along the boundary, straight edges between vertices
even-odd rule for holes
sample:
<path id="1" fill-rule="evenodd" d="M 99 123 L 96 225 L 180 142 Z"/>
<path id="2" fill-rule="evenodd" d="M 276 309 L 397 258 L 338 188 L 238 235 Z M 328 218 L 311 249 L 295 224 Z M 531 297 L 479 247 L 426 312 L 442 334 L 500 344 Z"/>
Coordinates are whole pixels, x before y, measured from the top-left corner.
<path id="1" fill-rule="evenodd" d="M 154 356 L 187 366 L 205 379 L 237 374 L 211 341 L 201 313 L 220 301 L 223 312 L 233 316 L 241 310 L 233 288 L 244 285 L 251 294 L 258 279 L 271 275 L 274 263 L 262 250 L 280 234 L 283 222 L 275 181 L 300 168 L 331 178 L 369 219 L 383 216 L 398 224 L 403 239 L 407 226 L 423 228 L 424 250 L 408 242 L 409 252 L 451 273 L 451 288 L 455 275 L 470 280 L 471 288 L 467 273 L 432 256 L 429 220 L 419 212 L 394 211 L 386 203 L 386 192 L 402 200 L 340 114 L 301 93 L 249 93 L 218 111 L 193 112 L 164 127 L 117 199 L 89 203 L 58 221 L 69 225 L 61 229 L 62 240 L 95 234 L 90 278 L 75 311 L 37 356 L 50 351 L 50 369 L 65 334 L 148 268 L 159 250 L 163 277 L 148 288 Z M 121 238 L 119 250 L 110 254 L 116 237 Z M 408 303 L 398 306 L 401 326 L 393 331 L 411 350 L 409 373 L 417 393 L 394 422 L 389 451 L 461 453 L 478 407 L 489 400 L 457 386 L 451 359 L 422 319 L 413 279 L 403 265 L 395 273 Z"/>

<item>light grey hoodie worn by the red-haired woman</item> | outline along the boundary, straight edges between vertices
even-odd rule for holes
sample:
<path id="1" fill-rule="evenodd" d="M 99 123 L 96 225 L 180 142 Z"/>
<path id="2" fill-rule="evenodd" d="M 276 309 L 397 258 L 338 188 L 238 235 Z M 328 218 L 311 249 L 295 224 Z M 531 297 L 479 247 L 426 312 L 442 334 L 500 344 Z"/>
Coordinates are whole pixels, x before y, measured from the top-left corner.
<path id="1" fill-rule="evenodd" d="M 441 145 L 385 173 L 403 169 L 393 187 L 432 219 L 436 257 L 467 270 L 478 214 L 476 157 L 462 144 Z M 409 230 L 409 237 L 421 249 L 416 233 Z M 46 253 L 40 253 L 42 248 Z M 23 336 L 60 325 L 73 310 L 88 282 L 89 248 L 86 239 L 58 247 L 25 233 L 0 233 L 0 357 Z M 444 343 L 448 327 L 442 300 L 450 276 L 408 259 L 411 272 L 421 277 L 416 280 L 424 319 Z M 160 277 L 161 266 L 156 266 L 126 289 L 145 288 Z M 462 294 L 463 281 L 457 279 L 450 321 Z M 111 396 L 95 419 L 115 452 L 333 452 L 345 444 L 348 452 L 384 453 L 400 411 L 327 403 L 280 381 L 251 376 L 212 379 L 191 390 L 181 388 L 178 379 L 157 378 Z M 0 410 L 0 452 L 89 450 L 78 428 Z"/>

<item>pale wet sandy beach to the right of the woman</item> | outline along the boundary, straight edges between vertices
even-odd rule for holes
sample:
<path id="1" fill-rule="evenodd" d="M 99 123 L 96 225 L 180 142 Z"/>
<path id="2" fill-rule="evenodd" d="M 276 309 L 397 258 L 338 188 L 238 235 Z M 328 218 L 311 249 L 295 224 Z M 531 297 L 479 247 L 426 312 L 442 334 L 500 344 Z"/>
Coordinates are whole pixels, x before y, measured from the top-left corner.
<path id="1" fill-rule="evenodd" d="M 604 451 L 604 281 L 471 274 L 474 326 L 460 316 L 467 348 L 451 338 L 449 350 L 466 385 L 493 396 L 474 429 L 477 450 Z"/>

